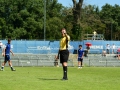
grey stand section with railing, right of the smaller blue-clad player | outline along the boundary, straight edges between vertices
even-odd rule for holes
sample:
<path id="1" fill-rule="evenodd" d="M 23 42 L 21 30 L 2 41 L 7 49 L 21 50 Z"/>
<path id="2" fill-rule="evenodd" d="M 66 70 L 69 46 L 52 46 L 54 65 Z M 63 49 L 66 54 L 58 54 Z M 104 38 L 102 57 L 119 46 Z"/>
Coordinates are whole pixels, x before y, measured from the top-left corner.
<path id="1" fill-rule="evenodd" d="M 116 54 L 107 54 L 106 56 L 89 54 L 88 57 L 84 58 L 84 64 L 86 66 L 119 67 L 120 60 Z"/>

